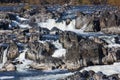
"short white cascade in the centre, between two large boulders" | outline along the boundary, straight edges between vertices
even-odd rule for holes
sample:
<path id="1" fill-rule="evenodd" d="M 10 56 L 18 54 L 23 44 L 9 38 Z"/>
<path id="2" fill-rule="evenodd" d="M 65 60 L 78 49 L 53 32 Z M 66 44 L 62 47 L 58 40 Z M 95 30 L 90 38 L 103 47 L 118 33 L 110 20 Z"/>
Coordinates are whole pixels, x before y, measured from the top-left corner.
<path id="1" fill-rule="evenodd" d="M 63 57 L 66 54 L 66 49 L 62 47 L 62 44 L 59 43 L 58 41 L 53 42 L 57 50 L 53 53 L 52 57 Z"/>

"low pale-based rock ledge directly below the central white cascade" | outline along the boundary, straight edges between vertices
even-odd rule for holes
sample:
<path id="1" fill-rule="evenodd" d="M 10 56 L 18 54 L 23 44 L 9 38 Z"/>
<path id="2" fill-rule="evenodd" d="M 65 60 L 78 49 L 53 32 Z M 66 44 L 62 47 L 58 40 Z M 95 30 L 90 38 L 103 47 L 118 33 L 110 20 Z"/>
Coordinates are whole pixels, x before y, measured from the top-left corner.
<path id="1" fill-rule="evenodd" d="M 61 59 L 46 57 L 43 60 L 41 60 L 40 63 L 34 62 L 30 64 L 30 67 L 38 70 L 53 70 L 53 69 L 61 68 L 62 64 L 63 62 Z"/>

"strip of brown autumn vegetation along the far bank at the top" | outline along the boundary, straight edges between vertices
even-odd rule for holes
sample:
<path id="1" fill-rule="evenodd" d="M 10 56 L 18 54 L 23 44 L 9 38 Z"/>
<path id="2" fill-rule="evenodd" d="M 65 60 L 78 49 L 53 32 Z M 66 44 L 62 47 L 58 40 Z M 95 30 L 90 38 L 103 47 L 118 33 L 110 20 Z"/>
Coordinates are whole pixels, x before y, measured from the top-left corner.
<path id="1" fill-rule="evenodd" d="M 120 6 L 120 0 L 1 0 L 0 3 L 29 3 L 29 4 L 111 4 Z"/>

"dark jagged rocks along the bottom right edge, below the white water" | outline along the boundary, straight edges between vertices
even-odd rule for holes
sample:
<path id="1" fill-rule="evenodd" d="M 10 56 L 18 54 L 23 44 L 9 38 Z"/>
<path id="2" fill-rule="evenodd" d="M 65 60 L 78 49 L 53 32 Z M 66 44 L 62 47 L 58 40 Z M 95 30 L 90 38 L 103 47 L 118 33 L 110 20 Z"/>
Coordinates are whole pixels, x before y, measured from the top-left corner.
<path id="1" fill-rule="evenodd" d="M 117 74 L 113 74 L 110 76 L 107 76 L 105 74 L 103 74 L 102 72 L 97 72 L 95 73 L 94 71 L 90 70 L 90 71 L 82 71 L 82 72 L 76 72 L 74 75 L 68 76 L 65 79 L 58 79 L 58 80 L 86 80 L 86 79 L 92 79 L 92 80 L 119 80 L 119 75 Z"/>

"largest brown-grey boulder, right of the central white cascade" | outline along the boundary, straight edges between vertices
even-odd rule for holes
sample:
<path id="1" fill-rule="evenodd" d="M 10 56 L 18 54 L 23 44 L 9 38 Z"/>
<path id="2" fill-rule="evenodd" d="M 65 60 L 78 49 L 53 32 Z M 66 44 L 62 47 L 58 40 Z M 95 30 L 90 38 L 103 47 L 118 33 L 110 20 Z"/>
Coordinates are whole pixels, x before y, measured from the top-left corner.
<path id="1" fill-rule="evenodd" d="M 74 55 L 73 55 L 74 54 Z M 81 40 L 67 49 L 66 60 L 79 64 L 80 67 L 102 64 L 104 57 L 102 46 L 91 40 Z"/>

